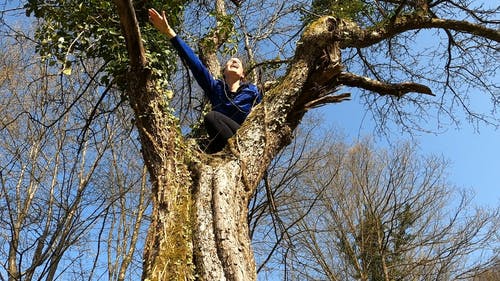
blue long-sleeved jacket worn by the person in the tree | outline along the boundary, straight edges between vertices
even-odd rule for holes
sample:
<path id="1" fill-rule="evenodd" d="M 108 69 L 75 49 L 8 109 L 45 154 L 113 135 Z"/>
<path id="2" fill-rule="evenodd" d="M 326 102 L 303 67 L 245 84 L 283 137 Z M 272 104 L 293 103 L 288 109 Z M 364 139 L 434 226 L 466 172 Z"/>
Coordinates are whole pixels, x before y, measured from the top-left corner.
<path id="1" fill-rule="evenodd" d="M 212 109 L 228 116 L 238 124 L 243 123 L 252 107 L 262 100 L 257 86 L 242 83 L 236 93 L 230 92 L 224 80 L 214 79 L 198 56 L 179 36 L 175 36 L 170 41 L 179 56 L 188 64 L 194 78 L 210 100 Z"/>

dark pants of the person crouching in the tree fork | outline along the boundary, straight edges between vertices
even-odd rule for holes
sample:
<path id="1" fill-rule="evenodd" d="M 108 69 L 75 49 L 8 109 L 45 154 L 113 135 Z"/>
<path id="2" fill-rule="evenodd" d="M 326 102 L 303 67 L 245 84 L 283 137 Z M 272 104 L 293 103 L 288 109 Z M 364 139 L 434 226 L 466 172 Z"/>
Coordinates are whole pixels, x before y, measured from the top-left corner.
<path id="1" fill-rule="evenodd" d="M 210 138 L 206 148 L 208 153 L 221 151 L 227 140 L 240 128 L 240 124 L 236 121 L 217 111 L 210 111 L 204 119 L 205 128 Z"/>

